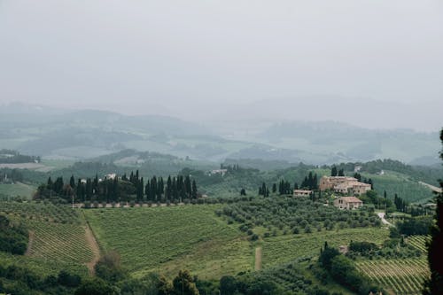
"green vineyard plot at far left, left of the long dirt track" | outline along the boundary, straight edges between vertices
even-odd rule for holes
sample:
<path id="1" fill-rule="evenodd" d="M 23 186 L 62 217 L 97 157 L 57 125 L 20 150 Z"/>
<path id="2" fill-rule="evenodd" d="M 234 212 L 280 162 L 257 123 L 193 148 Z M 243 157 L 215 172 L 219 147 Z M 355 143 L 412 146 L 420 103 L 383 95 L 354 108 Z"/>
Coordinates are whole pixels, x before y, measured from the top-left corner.
<path id="1" fill-rule="evenodd" d="M 43 274 L 61 269 L 86 274 L 86 263 L 93 254 L 86 240 L 81 215 L 69 206 L 35 202 L 1 202 L 0 213 L 29 229 L 28 250 L 24 256 L 0 253 L 4 265 L 17 263 Z"/>

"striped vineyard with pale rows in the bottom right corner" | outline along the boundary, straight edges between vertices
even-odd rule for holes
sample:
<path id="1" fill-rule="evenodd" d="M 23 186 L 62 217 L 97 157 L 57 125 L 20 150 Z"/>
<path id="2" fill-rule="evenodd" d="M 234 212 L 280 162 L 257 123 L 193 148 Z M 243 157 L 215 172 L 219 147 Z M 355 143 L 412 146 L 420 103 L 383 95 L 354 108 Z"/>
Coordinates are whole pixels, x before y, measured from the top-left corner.
<path id="1" fill-rule="evenodd" d="M 421 294 L 424 279 L 430 276 L 425 259 L 364 260 L 357 268 L 396 295 Z"/>

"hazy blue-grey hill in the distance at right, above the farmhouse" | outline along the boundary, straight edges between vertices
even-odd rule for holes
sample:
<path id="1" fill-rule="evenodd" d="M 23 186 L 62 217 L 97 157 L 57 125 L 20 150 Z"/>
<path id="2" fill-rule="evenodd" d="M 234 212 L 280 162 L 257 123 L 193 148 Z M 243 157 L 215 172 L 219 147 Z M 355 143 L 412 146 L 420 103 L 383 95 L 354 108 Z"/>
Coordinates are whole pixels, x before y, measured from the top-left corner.
<path id="1" fill-rule="evenodd" d="M 400 159 L 416 165 L 438 163 L 438 133 L 411 129 L 367 129 L 335 121 L 277 123 L 256 136 L 281 148 L 298 146 L 314 154 L 334 153 L 333 161 Z M 335 152 L 334 152 L 335 151 Z M 330 159 L 324 159 L 330 162 Z"/>

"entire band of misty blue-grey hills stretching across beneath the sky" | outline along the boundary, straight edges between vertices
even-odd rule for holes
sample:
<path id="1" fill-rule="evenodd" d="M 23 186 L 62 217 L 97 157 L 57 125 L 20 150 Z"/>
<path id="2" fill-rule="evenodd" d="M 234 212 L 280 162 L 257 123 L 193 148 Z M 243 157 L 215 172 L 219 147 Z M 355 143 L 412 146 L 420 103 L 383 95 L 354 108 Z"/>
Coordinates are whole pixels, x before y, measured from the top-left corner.
<path id="1" fill-rule="evenodd" d="M 135 149 L 215 162 L 265 159 L 329 164 L 387 158 L 418 165 L 439 162 L 437 130 L 368 129 L 338 121 L 298 121 L 297 115 L 268 118 L 255 125 L 247 116 L 234 117 L 221 126 L 216 120 L 196 123 L 163 115 L 129 116 L 44 105 L 12 104 L 0 110 L 0 148 L 46 158 L 90 159 Z"/>

